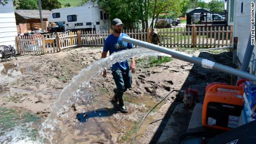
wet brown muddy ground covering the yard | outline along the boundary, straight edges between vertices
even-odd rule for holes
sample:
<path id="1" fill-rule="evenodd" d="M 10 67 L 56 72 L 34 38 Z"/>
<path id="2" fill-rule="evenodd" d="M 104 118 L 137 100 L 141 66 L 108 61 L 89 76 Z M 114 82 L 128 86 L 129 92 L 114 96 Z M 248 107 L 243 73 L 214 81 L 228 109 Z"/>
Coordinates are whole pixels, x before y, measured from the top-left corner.
<path id="1" fill-rule="evenodd" d="M 100 59 L 101 51 L 101 47 L 81 47 L 40 56 L 19 56 L 17 60 L 1 62 L 0 111 L 28 112 L 40 117 L 39 123 L 43 122 L 63 87 L 82 68 Z M 232 53 L 229 51 L 190 51 L 190 53 L 232 66 Z M 68 117 L 61 120 L 61 125 L 67 125 L 68 129 L 58 133 L 61 137 L 55 138 L 53 143 L 128 143 L 145 113 L 171 90 L 196 88 L 199 90 L 198 101 L 203 101 L 207 83 L 230 84 L 232 78 L 225 73 L 178 59 L 159 66 L 150 66 L 148 61 L 149 58 L 137 59 L 132 89 L 125 93 L 125 105 L 129 113 L 118 112 L 116 105 L 111 103 L 115 84 L 111 72 L 108 71 L 106 78 L 98 76 L 91 81 L 93 91 L 96 91 L 97 95 L 91 98 L 81 96 L 80 100 L 68 106 L 70 107 L 66 111 Z M 183 92 L 173 92 L 156 110 L 152 111 L 139 131 L 137 143 L 157 142 L 171 112 L 182 102 L 182 99 Z M 87 118 L 79 117 L 80 114 L 82 116 L 85 112 L 90 114 L 93 111 L 95 115 L 88 115 L 90 117 Z M 191 110 L 185 115 L 189 117 Z M 83 118 L 86 120 L 82 120 Z M 186 132 L 188 123 L 189 118 L 187 123 L 177 123 L 174 126 L 177 127 L 177 133 L 175 136 L 170 136 L 170 143 L 178 141 L 178 136 Z M 0 135 L 4 134 L 0 133 Z"/>

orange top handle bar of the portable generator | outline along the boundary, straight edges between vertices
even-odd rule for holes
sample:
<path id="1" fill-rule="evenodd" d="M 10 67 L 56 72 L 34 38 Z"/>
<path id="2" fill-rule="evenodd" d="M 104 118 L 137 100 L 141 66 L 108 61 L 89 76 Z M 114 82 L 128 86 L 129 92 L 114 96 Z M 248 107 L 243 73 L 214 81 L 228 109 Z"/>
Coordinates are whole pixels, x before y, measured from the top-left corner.
<path id="1" fill-rule="evenodd" d="M 219 88 L 223 88 L 224 90 L 236 90 L 236 91 L 229 91 L 229 92 L 233 92 L 233 93 L 239 93 L 240 95 L 243 95 L 244 91 L 243 91 L 243 87 L 238 87 L 238 86 L 230 86 L 230 85 L 213 85 L 211 86 L 208 91 L 213 91 L 213 92 L 217 92 L 219 91 Z"/>

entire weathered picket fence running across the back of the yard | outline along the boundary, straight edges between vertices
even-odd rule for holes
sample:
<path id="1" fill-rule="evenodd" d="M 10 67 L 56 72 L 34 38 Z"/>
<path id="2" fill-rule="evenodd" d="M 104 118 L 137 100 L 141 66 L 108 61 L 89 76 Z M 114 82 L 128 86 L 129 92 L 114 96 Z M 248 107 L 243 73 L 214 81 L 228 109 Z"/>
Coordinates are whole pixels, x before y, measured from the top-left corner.
<path id="1" fill-rule="evenodd" d="M 188 27 L 158 29 L 160 46 L 164 47 L 223 47 L 232 44 L 233 27 Z M 126 29 L 123 31 L 131 38 L 150 42 L 150 29 Z M 110 31 L 77 31 L 57 34 L 35 34 L 19 36 L 19 54 L 56 53 L 62 49 L 76 46 L 103 46 Z"/>

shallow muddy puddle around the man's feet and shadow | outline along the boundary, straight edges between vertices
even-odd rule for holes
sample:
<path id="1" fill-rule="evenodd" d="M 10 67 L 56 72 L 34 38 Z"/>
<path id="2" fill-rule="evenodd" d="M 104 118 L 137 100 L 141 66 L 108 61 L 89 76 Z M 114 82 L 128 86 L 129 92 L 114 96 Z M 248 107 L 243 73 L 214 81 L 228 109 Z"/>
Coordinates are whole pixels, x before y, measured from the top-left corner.
<path id="1" fill-rule="evenodd" d="M 117 141 L 115 142 L 122 143 L 122 142 L 131 141 L 132 138 L 134 137 L 136 128 L 139 126 L 139 123 L 141 122 L 141 118 L 146 115 L 147 111 L 149 111 L 150 108 L 152 108 L 159 102 L 159 100 L 156 100 L 155 98 L 152 98 L 152 96 L 149 96 L 149 95 L 134 97 L 134 96 L 125 94 L 124 96 L 125 105 L 126 107 L 129 107 L 129 114 L 124 115 L 124 114 L 118 114 L 119 112 L 115 108 L 102 108 L 102 106 L 108 107 L 107 104 L 110 103 L 110 100 L 109 98 L 107 98 L 106 94 L 100 93 L 99 95 L 101 97 L 98 97 L 96 101 L 95 101 L 95 97 L 93 97 L 90 100 L 89 107 L 94 106 L 96 110 L 91 110 L 92 108 L 89 108 L 89 110 L 91 111 L 77 113 L 76 120 L 78 120 L 79 122 L 77 122 L 76 126 L 72 127 L 73 130 L 79 130 L 80 133 L 83 133 L 81 135 L 85 135 L 84 137 L 88 138 L 88 140 L 93 140 L 92 138 L 92 136 L 94 135 L 93 133 L 104 133 L 104 135 L 106 136 L 112 135 L 112 137 L 115 137 L 113 133 L 120 133 L 120 126 L 121 126 L 121 127 L 126 127 L 127 131 L 124 131 L 124 134 L 122 134 L 121 136 L 116 136 Z M 164 105 L 164 103 L 165 102 L 161 103 L 160 106 L 157 106 L 155 110 L 153 110 L 152 112 L 156 112 L 161 106 Z M 113 115 L 114 117 L 115 116 L 129 117 L 129 115 L 132 115 L 133 113 L 132 111 L 139 110 L 140 106 L 142 106 L 143 108 L 142 110 L 140 110 L 142 111 L 140 112 L 140 114 L 137 113 L 138 115 L 140 115 L 140 117 L 137 118 L 137 122 L 134 122 L 132 120 L 126 120 L 125 117 L 121 120 L 114 119 L 113 121 Z M 113 107 L 112 104 L 111 104 L 111 107 Z M 112 118 L 110 116 L 112 116 Z M 139 138 L 142 136 L 146 128 L 149 126 L 152 119 L 153 119 L 152 115 L 149 115 L 146 117 L 145 121 L 142 123 L 137 133 L 136 140 L 139 140 Z M 77 138 L 77 135 L 73 135 L 73 137 Z M 107 137 L 105 138 L 106 140 L 110 139 Z M 79 138 L 76 141 L 80 141 Z"/>

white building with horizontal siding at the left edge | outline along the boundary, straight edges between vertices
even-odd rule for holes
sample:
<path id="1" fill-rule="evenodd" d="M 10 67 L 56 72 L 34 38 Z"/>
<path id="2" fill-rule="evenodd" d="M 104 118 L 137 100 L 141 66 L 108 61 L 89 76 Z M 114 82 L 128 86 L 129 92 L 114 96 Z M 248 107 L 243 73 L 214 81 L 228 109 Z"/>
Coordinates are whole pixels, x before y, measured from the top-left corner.
<path id="1" fill-rule="evenodd" d="M 12 45 L 16 47 L 16 36 L 18 36 L 18 33 L 13 2 L 9 0 L 5 6 L 0 4 L 0 45 Z"/>

